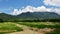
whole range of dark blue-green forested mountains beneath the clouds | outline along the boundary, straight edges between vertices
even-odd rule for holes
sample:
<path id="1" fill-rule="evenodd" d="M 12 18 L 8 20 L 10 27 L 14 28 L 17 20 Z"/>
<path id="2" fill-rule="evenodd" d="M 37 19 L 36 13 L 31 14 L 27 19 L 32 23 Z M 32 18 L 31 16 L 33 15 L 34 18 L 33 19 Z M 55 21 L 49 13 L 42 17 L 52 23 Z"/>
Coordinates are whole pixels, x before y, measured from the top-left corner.
<path id="1" fill-rule="evenodd" d="M 17 16 L 0 13 L 0 21 L 13 20 L 46 20 L 46 19 L 60 19 L 60 15 L 54 12 L 26 12 Z"/>

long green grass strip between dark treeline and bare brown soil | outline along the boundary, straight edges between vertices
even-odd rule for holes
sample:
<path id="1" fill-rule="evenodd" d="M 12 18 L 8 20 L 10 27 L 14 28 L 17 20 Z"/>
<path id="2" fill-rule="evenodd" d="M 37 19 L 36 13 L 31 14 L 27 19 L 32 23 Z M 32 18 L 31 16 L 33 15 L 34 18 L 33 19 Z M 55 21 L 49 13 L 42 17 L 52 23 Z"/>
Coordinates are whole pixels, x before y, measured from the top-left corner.
<path id="1" fill-rule="evenodd" d="M 35 28 L 60 28 L 60 24 L 57 23 L 47 23 L 47 22 L 37 22 L 37 23 L 29 23 L 29 22 L 18 22 L 19 24 L 22 25 L 27 25 L 30 27 L 35 27 Z"/>

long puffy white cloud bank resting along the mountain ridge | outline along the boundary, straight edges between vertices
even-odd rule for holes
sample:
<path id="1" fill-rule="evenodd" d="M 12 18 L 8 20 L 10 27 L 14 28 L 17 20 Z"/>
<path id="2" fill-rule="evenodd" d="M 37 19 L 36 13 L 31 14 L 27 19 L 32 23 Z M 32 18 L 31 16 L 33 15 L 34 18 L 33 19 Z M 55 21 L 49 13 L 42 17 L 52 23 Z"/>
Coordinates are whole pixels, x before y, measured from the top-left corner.
<path id="1" fill-rule="evenodd" d="M 14 9 L 13 15 L 19 15 L 21 13 L 26 13 L 26 12 L 55 12 L 60 14 L 60 9 L 46 8 L 45 6 L 40 6 L 40 7 L 26 6 L 23 9 Z"/>

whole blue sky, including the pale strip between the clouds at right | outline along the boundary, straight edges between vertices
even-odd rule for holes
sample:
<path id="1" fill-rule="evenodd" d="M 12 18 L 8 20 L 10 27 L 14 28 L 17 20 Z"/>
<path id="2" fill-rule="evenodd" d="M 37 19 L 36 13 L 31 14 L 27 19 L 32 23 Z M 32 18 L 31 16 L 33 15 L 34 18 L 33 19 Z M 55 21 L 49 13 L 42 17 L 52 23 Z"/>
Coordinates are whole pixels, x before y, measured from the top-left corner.
<path id="1" fill-rule="evenodd" d="M 45 6 L 47 8 L 60 8 L 60 5 L 46 5 L 43 1 L 44 0 L 0 0 L 0 12 L 10 14 L 12 13 L 13 9 L 22 9 L 22 7 L 26 6 Z"/>

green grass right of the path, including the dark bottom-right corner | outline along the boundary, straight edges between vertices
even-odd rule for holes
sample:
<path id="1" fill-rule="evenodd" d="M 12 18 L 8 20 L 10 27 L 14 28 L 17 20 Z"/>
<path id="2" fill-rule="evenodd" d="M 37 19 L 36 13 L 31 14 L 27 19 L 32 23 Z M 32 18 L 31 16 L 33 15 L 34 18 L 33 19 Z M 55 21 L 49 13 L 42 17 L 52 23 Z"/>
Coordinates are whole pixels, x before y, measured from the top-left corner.
<path id="1" fill-rule="evenodd" d="M 56 22 L 56 23 L 53 23 L 53 22 L 37 22 L 37 23 L 36 22 L 18 22 L 18 23 L 29 26 L 29 27 L 33 27 L 33 28 L 38 28 L 38 29 L 55 28 L 55 30 L 53 32 L 49 32 L 46 34 L 60 34 L 60 23 L 58 23 L 58 22 Z"/>

